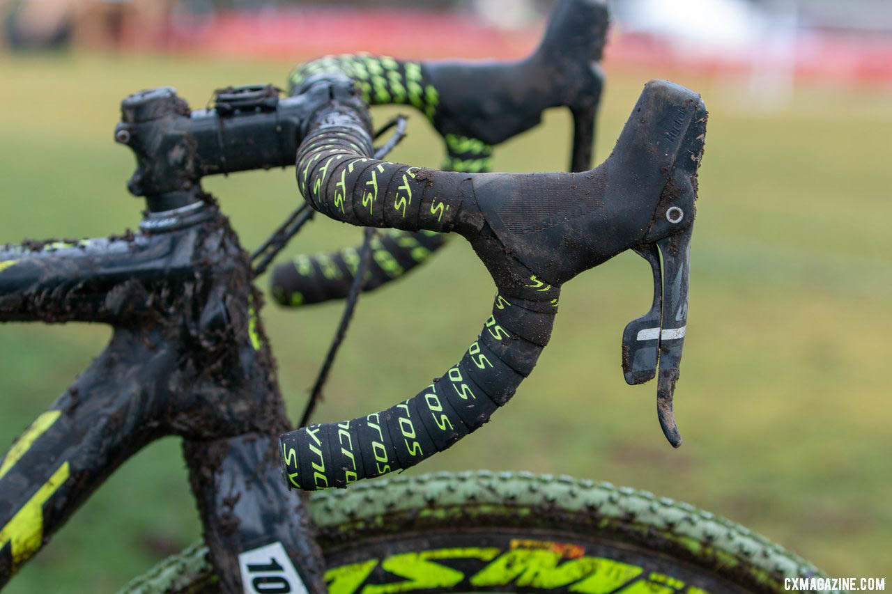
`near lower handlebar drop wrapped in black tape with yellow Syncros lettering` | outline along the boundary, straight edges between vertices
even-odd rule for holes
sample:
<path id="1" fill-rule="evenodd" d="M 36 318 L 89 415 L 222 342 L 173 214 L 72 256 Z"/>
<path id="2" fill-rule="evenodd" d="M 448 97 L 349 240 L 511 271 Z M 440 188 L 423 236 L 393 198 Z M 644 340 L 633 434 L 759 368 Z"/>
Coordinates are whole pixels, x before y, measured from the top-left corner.
<path id="1" fill-rule="evenodd" d="M 486 423 L 514 395 L 548 342 L 558 289 L 542 301 L 496 296 L 457 365 L 409 400 L 280 438 L 289 487 L 314 491 L 414 466 Z"/>

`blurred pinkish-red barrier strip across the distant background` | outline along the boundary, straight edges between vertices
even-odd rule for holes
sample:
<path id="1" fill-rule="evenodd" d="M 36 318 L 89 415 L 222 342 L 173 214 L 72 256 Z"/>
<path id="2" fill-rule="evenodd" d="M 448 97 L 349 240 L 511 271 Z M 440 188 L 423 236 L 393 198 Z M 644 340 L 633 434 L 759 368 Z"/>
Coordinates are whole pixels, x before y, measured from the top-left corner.
<path id="1" fill-rule="evenodd" d="M 185 24 L 186 26 L 183 26 Z M 368 51 L 401 57 L 520 58 L 533 50 L 541 27 L 500 29 L 473 12 L 423 8 L 326 8 L 217 12 L 174 25 L 167 37 L 179 51 L 268 55 L 305 60 L 324 54 Z M 614 30 L 607 44 L 610 67 L 721 74 L 746 72 L 776 59 L 758 47 L 737 54 L 680 51 L 664 38 Z M 824 33 L 797 40 L 791 68 L 797 77 L 892 84 L 892 39 Z"/>

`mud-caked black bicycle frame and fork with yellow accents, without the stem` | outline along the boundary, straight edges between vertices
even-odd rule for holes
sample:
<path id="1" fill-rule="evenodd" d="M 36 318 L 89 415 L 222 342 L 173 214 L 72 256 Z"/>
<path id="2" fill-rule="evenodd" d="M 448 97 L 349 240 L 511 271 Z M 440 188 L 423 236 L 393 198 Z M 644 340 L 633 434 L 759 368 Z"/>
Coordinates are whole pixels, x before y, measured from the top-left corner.
<path id="1" fill-rule="evenodd" d="M 321 557 L 301 498 L 281 480 L 277 435 L 290 425 L 246 254 L 204 203 L 150 214 L 142 227 L 0 251 L 0 321 L 113 329 L 102 354 L 4 458 L 0 583 L 118 466 L 176 434 L 227 590 L 242 580 L 287 581 L 291 591 L 305 582 L 313 591 Z"/>

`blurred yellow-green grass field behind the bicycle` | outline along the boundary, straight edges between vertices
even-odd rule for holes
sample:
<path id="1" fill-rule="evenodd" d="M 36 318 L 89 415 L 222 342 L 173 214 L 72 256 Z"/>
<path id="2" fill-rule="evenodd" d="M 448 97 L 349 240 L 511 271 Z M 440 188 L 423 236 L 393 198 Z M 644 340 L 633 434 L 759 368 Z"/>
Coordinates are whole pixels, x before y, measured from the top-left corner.
<path id="1" fill-rule="evenodd" d="M 194 107 L 227 84 L 285 79 L 284 62 L 0 55 L 0 238 L 98 236 L 135 228 L 128 151 L 112 141 L 120 99 L 178 87 Z M 607 69 L 599 159 L 655 72 Z M 728 516 L 831 575 L 892 572 L 892 93 L 797 88 L 760 111 L 729 82 L 681 78 L 710 110 L 692 249 L 689 337 L 673 450 L 656 387 L 623 382 L 620 339 L 648 309 L 650 276 L 624 254 L 566 285 L 549 348 L 510 406 L 412 469 L 529 469 L 629 484 Z M 569 119 L 500 147 L 500 170 L 568 161 Z M 422 117 L 394 160 L 437 165 Z M 209 180 L 249 249 L 300 200 L 293 171 Z M 290 253 L 359 241 L 318 220 Z M 266 287 L 266 280 L 260 285 Z M 455 241 L 405 282 L 359 304 L 318 420 L 414 394 L 467 348 L 491 280 Z M 470 312 L 469 312 L 470 310 Z M 340 305 L 264 322 L 292 417 L 300 414 Z M 409 326 L 423 320 L 424 333 Z M 387 331 L 382 331 L 386 327 Z M 0 327 L 0 442 L 9 443 L 101 350 L 101 326 Z M 198 537 L 178 443 L 160 441 L 111 477 L 6 591 L 114 590 Z"/>

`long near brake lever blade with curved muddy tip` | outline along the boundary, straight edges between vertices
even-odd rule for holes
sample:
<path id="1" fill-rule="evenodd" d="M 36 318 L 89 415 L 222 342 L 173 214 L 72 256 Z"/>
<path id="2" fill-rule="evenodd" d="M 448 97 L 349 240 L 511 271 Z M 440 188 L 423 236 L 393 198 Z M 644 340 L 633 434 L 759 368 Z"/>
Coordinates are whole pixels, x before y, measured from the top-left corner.
<path id="1" fill-rule="evenodd" d="M 688 325 L 688 287 L 690 285 L 690 235 L 693 226 L 657 242 L 663 256 L 663 319 L 659 340 L 659 378 L 657 379 L 657 417 L 663 433 L 673 448 L 681 445 L 675 425 L 673 393 L 681 367 L 681 349 Z"/>

